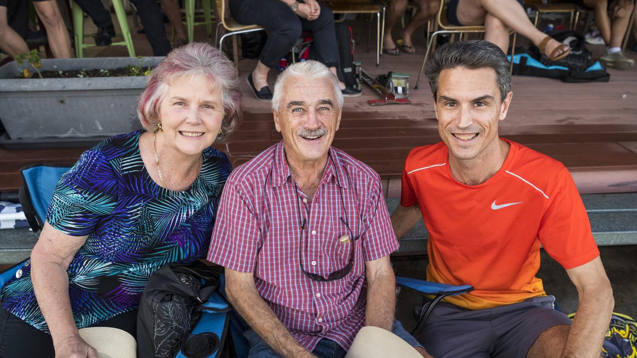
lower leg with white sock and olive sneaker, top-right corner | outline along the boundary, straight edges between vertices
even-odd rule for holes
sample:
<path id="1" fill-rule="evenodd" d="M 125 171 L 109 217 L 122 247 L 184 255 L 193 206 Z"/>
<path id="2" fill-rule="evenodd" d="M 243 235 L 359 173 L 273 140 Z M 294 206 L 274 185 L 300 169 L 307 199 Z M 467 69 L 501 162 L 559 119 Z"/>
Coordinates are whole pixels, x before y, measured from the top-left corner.
<path id="1" fill-rule="evenodd" d="M 629 69 L 634 66 L 633 59 L 629 59 L 622 52 L 622 41 L 630 22 L 631 13 L 634 10 L 633 0 L 617 0 L 610 4 L 613 11 L 613 22 L 611 25 L 610 43 L 606 54 L 599 58 L 599 61 L 606 67 L 616 69 Z"/>

